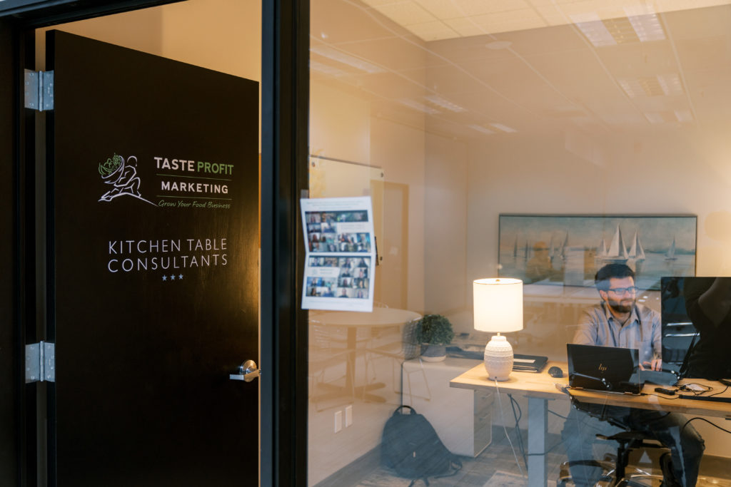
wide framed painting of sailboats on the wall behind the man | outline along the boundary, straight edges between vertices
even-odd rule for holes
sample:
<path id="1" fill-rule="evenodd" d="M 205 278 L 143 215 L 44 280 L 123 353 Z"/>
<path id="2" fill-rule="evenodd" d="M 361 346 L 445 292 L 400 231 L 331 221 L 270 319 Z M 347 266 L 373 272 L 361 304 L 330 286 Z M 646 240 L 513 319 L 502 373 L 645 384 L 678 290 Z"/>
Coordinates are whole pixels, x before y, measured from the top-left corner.
<path id="1" fill-rule="evenodd" d="M 695 275 L 695 215 L 504 214 L 499 223 L 500 274 L 524 283 L 593 286 L 607 264 L 626 264 L 648 290 Z"/>

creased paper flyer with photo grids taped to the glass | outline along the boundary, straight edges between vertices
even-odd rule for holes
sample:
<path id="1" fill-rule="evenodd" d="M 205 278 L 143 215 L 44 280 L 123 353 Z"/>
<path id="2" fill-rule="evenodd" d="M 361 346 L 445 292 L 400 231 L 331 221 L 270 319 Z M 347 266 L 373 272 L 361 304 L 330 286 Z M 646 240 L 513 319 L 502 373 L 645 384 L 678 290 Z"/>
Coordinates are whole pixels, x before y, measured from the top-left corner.
<path id="1" fill-rule="evenodd" d="M 306 264 L 305 310 L 373 310 L 374 239 L 371 197 L 300 200 Z"/>

